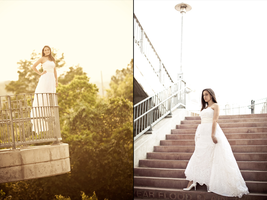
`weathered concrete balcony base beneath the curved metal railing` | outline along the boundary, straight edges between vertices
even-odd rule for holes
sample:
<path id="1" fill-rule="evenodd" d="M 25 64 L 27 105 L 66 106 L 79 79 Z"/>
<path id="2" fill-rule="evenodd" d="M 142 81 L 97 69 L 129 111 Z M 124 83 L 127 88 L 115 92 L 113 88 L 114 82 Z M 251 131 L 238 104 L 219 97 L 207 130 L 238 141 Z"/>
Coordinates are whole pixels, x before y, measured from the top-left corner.
<path id="1" fill-rule="evenodd" d="M 0 183 L 53 176 L 69 171 L 68 144 L 0 150 Z"/>

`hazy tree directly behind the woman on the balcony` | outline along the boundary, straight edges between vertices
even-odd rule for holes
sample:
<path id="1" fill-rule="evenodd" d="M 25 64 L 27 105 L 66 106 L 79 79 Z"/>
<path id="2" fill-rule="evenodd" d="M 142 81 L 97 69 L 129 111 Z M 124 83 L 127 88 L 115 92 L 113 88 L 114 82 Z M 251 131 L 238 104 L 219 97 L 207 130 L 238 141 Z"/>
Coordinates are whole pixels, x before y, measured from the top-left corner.
<path id="1" fill-rule="evenodd" d="M 52 55 L 55 57 L 56 68 L 63 67 L 66 63 L 64 61 L 64 55 L 62 53 L 60 58 L 57 58 L 57 50 L 52 49 Z M 35 51 L 31 54 L 29 60 L 20 60 L 17 64 L 18 67 L 18 81 L 11 81 L 6 85 L 5 89 L 9 92 L 13 92 L 14 95 L 18 94 L 31 94 L 34 93 L 38 84 L 40 76 L 35 73 L 31 67 L 41 57 L 41 54 L 37 54 Z M 39 69 L 43 72 L 43 69 Z"/>

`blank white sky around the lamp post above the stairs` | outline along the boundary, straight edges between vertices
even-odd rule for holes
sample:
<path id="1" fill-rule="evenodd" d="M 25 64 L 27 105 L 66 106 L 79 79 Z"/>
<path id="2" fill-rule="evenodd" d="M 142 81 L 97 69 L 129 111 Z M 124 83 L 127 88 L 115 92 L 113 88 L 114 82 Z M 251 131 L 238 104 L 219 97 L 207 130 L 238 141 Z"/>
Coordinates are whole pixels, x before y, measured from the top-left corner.
<path id="1" fill-rule="evenodd" d="M 183 73 L 201 94 L 212 88 L 220 103 L 267 97 L 267 1 L 134 0 L 134 14 L 164 66 L 177 80 L 181 17 L 174 7 L 192 9 L 183 20 Z"/>

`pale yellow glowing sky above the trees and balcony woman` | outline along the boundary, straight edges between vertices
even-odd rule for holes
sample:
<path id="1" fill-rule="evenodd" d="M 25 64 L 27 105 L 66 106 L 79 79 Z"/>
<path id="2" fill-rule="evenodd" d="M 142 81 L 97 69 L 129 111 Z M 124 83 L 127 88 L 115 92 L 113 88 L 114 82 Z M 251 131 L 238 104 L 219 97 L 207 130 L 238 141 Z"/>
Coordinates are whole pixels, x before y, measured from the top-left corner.
<path id="1" fill-rule="evenodd" d="M 58 76 L 79 63 L 90 81 L 102 70 L 109 82 L 133 58 L 132 13 L 131 0 L 0 0 L 0 82 L 18 80 L 17 62 L 45 45 L 64 53 Z"/>

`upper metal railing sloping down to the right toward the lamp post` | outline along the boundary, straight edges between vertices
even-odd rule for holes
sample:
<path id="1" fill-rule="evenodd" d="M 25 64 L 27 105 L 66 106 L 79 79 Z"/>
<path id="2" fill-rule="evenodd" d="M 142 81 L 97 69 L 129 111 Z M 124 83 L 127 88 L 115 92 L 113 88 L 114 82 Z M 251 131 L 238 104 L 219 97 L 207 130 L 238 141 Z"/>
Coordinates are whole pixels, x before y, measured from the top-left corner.
<path id="1" fill-rule="evenodd" d="M 144 32 L 140 22 L 134 14 L 134 44 L 138 47 L 142 55 L 144 55 L 148 63 L 153 68 L 154 73 L 157 74 L 158 79 L 163 86 L 169 86 L 174 81 L 171 79 L 167 69 L 163 65 L 160 57 L 158 56 L 155 48 L 151 44 L 150 40 L 147 37 L 147 34 Z"/>

